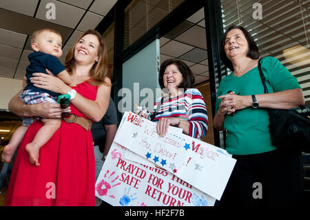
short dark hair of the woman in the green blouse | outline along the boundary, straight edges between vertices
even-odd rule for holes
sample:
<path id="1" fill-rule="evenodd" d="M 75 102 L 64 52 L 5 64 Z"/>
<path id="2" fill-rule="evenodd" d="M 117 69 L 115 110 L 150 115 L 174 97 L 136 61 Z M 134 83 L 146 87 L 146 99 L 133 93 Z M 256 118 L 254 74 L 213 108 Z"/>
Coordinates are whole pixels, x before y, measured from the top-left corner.
<path id="1" fill-rule="evenodd" d="M 229 68 L 229 70 L 234 71 L 234 67 L 231 63 L 231 61 L 228 59 L 225 53 L 225 39 L 227 37 L 227 34 L 229 31 L 233 29 L 239 29 L 245 34 L 245 39 L 247 39 L 247 44 L 249 45 L 249 51 L 247 52 L 247 57 L 251 59 L 259 59 L 260 58 L 260 52 L 258 50 L 258 46 L 256 45 L 256 42 L 254 41 L 253 37 L 249 32 L 243 28 L 242 26 L 236 26 L 236 25 L 231 25 L 227 28 L 225 31 L 222 40 L 220 41 L 220 59 L 225 63 L 225 66 Z"/>

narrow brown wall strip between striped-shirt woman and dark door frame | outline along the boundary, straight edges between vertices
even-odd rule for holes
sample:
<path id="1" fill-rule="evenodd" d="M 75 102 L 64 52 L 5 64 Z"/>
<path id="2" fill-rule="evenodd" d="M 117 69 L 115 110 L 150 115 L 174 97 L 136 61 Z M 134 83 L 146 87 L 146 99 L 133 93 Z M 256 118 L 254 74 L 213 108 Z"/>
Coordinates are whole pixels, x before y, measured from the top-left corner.
<path id="1" fill-rule="evenodd" d="M 203 98 L 205 99 L 205 105 L 207 106 L 208 119 L 209 119 L 207 135 L 201 140 L 214 145 L 214 128 L 213 128 L 213 115 L 211 111 L 210 83 L 209 81 L 207 81 L 206 83 L 194 86 L 194 88 L 198 89 L 201 92 L 201 94 L 203 94 Z"/>

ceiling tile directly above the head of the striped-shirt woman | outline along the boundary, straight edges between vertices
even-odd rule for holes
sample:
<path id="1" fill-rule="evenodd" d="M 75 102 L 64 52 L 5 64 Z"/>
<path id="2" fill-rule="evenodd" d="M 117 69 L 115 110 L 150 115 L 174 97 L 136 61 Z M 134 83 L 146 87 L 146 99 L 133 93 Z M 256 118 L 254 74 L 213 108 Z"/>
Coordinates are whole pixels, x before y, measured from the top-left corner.
<path id="1" fill-rule="evenodd" d="M 179 57 L 185 54 L 194 47 L 178 41 L 169 41 L 163 47 L 161 47 L 161 53 L 170 55 L 172 57 Z"/>

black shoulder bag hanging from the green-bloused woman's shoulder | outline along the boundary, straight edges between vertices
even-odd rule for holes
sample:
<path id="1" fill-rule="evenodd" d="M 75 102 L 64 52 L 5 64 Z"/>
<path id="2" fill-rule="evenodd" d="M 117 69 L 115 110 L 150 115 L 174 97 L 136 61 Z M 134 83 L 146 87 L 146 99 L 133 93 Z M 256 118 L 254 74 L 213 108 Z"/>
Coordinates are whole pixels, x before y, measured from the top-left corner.
<path id="1" fill-rule="evenodd" d="M 265 77 L 262 74 L 260 60 L 258 61 L 260 79 L 268 93 Z M 301 112 L 268 108 L 269 132 L 271 143 L 281 150 L 294 152 L 310 152 L 310 116 L 309 108 L 300 106 Z"/>

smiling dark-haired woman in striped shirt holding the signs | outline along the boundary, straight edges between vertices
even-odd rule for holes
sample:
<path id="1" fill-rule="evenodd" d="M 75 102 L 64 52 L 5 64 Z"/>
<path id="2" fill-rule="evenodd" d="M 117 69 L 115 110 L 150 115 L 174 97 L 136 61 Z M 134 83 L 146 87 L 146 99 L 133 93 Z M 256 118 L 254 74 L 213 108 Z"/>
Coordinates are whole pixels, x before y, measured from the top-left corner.
<path id="1" fill-rule="evenodd" d="M 158 77 L 163 97 L 156 99 L 154 112 L 143 117 L 157 123 L 158 134 L 163 137 L 169 126 L 183 128 L 183 133 L 194 138 L 205 137 L 208 117 L 205 100 L 194 86 L 192 70 L 178 59 L 161 63 Z M 142 114 L 142 113 L 140 113 Z"/>

